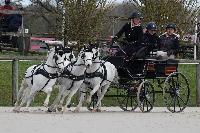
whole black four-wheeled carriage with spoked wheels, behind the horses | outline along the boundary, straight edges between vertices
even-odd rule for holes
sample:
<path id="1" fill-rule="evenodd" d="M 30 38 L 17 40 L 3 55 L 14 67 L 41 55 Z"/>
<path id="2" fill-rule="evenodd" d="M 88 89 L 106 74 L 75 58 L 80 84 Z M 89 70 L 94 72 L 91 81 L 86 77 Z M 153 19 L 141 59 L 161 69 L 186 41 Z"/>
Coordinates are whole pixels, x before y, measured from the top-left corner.
<path id="1" fill-rule="evenodd" d="M 119 76 L 118 82 L 110 86 L 116 94 L 105 97 L 116 97 L 122 110 L 134 111 L 139 107 L 142 112 L 150 112 L 157 94 L 162 94 L 170 112 L 182 112 L 186 108 L 190 86 L 186 76 L 178 71 L 177 60 L 156 59 L 152 54 L 135 59 L 112 55 L 104 60 L 115 65 Z M 93 96 L 89 109 L 97 98 Z"/>

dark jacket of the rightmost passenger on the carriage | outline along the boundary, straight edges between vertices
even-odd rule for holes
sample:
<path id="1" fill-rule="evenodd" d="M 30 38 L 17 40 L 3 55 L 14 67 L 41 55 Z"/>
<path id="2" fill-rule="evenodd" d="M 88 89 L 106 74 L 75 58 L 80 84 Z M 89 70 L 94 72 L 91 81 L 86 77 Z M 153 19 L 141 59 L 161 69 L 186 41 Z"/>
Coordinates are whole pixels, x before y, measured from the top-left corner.
<path id="1" fill-rule="evenodd" d="M 176 34 L 167 36 L 163 34 L 160 36 L 160 50 L 166 51 L 168 55 L 174 55 L 179 50 L 179 40 Z"/>

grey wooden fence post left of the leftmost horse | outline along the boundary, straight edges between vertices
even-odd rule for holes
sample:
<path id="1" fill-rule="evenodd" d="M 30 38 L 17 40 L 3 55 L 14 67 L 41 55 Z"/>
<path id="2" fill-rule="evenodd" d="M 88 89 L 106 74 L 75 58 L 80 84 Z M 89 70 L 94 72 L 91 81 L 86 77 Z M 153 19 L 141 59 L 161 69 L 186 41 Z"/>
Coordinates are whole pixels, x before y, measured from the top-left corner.
<path id="1" fill-rule="evenodd" d="M 12 60 L 12 105 L 17 100 L 18 92 L 18 59 Z"/>

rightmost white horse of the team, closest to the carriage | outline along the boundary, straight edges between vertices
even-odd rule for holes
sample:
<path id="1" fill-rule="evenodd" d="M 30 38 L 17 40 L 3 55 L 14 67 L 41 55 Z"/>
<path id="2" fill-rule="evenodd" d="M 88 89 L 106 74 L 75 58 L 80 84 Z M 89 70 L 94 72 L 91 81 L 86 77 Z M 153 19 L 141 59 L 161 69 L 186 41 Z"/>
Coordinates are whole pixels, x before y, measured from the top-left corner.
<path id="1" fill-rule="evenodd" d="M 84 84 L 81 86 L 81 96 L 74 112 L 80 111 L 86 94 L 85 91 L 88 88 L 92 89 L 92 91 L 86 101 L 90 103 L 92 96 L 97 92 L 98 101 L 92 111 L 101 111 L 101 100 L 107 92 L 107 89 L 111 82 L 117 82 L 118 80 L 118 73 L 115 66 L 110 62 L 100 60 L 100 53 L 97 47 L 94 47 L 93 50 L 96 51 L 95 58 L 93 58 L 93 64 L 86 69 L 86 78 Z"/>

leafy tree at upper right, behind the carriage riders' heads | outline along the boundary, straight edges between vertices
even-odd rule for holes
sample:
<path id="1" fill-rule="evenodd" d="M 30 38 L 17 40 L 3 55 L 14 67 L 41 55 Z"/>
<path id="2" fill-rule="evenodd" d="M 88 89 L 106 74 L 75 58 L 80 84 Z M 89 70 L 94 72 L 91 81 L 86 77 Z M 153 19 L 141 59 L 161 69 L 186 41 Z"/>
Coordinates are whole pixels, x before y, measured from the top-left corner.
<path id="1" fill-rule="evenodd" d="M 144 22 L 154 21 L 163 31 L 163 27 L 174 22 L 179 34 L 194 28 L 195 18 L 199 10 L 197 0 L 132 0 L 144 15 Z"/>

